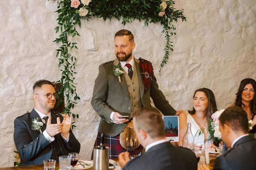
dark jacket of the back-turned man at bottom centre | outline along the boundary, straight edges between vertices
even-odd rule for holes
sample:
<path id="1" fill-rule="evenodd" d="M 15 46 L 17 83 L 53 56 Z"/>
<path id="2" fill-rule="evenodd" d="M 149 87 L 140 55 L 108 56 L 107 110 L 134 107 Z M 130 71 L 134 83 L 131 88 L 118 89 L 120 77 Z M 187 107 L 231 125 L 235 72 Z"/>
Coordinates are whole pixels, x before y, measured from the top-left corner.
<path id="1" fill-rule="evenodd" d="M 143 155 L 127 162 L 123 170 L 197 170 L 197 159 L 191 150 L 160 143 Z"/>

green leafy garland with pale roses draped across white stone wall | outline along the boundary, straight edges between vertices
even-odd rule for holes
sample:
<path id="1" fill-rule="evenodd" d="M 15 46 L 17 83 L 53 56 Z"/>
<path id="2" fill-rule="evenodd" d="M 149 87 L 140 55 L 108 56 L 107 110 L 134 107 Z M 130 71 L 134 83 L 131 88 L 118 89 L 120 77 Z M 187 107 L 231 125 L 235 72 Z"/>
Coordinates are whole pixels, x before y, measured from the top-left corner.
<path id="1" fill-rule="evenodd" d="M 173 0 L 52 0 L 57 1 L 58 24 L 55 28 L 56 33 L 60 31 L 58 38 L 54 42 L 61 42 L 62 45 L 56 50 L 56 57 L 59 57 L 59 67 L 62 75 L 59 82 L 63 83 L 59 93 L 64 92 L 67 97 L 64 113 L 71 114 L 71 108 L 74 108 L 75 100 L 80 99 L 76 94 L 75 87 L 75 64 L 76 57 L 69 51 L 72 48 L 78 49 L 77 43 L 71 42 L 68 37 L 79 35 L 75 29 L 78 24 L 81 27 L 80 19 L 93 19 L 94 17 L 103 18 L 103 20 L 116 18 L 122 20 L 122 24 L 131 23 L 135 19 L 144 21 L 144 26 L 148 23 L 161 23 L 163 33 L 165 33 L 165 56 L 160 64 L 159 74 L 162 67 L 169 59 L 170 50 L 173 51 L 173 41 L 170 37 L 175 33 L 173 21 L 177 22 L 178 18 L 186 21 L 183 15 L 183 9 L 176 10 Z M 61 101 L 62 102 L 62 101 Z M 78 118 L 78 114 L 72 114 Z"/>

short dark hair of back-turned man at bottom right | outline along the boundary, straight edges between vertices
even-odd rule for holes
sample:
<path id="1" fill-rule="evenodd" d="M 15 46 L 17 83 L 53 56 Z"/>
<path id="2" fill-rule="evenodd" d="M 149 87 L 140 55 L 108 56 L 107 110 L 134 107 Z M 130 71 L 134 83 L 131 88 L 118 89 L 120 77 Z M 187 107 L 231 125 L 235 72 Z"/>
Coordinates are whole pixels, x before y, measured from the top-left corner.
<path id="1" fill-rule="evenodd" d="M 219 122 L 222 126 L 227 124 L 234 131 L 248 133 L 247 114 L 241 107 L 231 106 L 226 108 L 219 116 Z"/>

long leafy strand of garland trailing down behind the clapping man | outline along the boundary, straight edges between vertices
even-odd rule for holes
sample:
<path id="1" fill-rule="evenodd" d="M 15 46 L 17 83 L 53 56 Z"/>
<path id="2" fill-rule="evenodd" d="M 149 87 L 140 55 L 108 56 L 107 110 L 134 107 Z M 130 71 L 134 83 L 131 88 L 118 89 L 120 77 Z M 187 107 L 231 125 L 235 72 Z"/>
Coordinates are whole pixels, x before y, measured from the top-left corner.
<path id="1" fill-rule="evenodd" d="M 69 53 L 72 48 L 78 49 L 76 46 L 77 43 L 72 43 L 69 41 L 68 37 L 69 35 L 72 35 L 72 37 L 79 35 L 79 33 L 75 29 L 75 25 L 78 24 L 81 26 L 80 22 L 80 16 L 76 13 L 76 9 L 70 7 L 70 1 L 63 0 L 63 1 L 57 1 L 58 10 L 57 12 L 58 18 L 57 22 L 59 24 L 58 27 L 56 27 L 54 30 L 56 30 L 56 33 L 59 33 L 59 38 L 56 38 L 53 42 L 56 43 L 62 43 L 62 45 L 56 50 L 57 54 L 56 57 L 59 57 L 59 64 L 60 71 L 62 71 L 61 78 L 58 82 L 63 84 L 63 87 L 60 89 L 59 94 L 64 93 L 64 96 L 66 97 L 65 102 L 65 108 L 63 113 L 68 114 L 69 116 L 72 114 L 72 117 L 79 117 L 78 114 L 74 114 L 71 112 L 71 108 L 74 108 L 76 100 L 80 100 L 80 97 L 76 93 L 76 86 L 74 83 L 75 80 L 75 65 L 76 65 L 76 57 L 71 55 Z M 61 99 L 58 105 L 63 101 Z M 72 125 L 74 127 L 74 125 Z"/>

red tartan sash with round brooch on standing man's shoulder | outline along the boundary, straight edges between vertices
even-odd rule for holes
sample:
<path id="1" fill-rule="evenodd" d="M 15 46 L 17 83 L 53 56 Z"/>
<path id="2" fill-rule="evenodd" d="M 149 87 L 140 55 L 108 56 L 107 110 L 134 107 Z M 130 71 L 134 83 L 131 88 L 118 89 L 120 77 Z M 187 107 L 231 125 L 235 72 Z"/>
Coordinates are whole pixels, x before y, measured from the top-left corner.
<path id="1" fill-rule="evenodd" d="M 143 84 L 145 85 L 145 90 L 151 86 L 153 82 L 152 78 L 154 76 L 152 63 L 148 60 L 139 58 L 140 73 L 142 74 Z"/>

